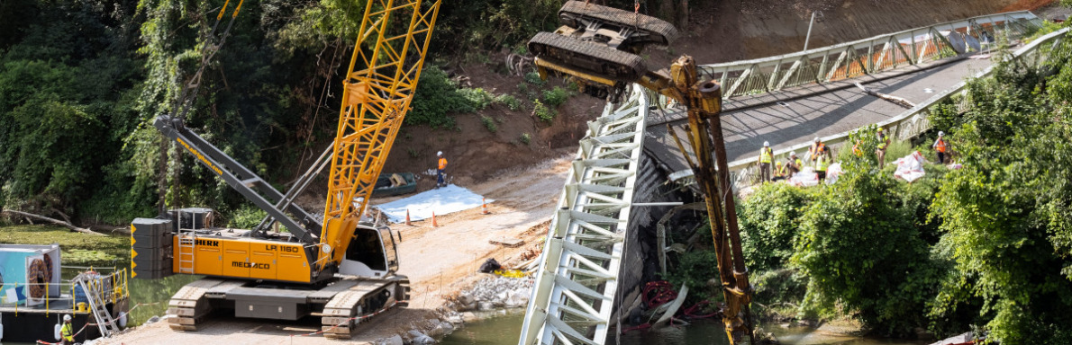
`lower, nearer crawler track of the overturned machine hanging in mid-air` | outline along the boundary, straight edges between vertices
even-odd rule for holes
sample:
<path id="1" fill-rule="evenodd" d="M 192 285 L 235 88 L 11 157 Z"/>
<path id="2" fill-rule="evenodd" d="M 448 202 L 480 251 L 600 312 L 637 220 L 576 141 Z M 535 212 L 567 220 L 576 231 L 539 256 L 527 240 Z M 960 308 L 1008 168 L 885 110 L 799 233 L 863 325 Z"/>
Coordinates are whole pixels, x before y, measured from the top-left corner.
<path id="1" fill-rule="evenodd" d="M 615 81 L 639 80 L 647 73 L 639 56 L 550 32 L 537 33 L 528 50 L 539 59 Z"/>

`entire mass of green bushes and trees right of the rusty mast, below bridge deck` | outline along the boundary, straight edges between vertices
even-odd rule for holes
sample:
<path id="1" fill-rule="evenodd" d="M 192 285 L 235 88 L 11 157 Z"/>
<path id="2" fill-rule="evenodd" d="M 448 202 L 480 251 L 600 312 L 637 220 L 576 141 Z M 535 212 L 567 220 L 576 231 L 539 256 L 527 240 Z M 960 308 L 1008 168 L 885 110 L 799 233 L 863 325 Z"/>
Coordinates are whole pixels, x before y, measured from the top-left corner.
<path id="1" fill-rule="evenodd" d="M 1072 67 L 1049 63 L 1001 63 L 969 81 L 967 111 L 936 107 L 963 169 L 927 162 L 905 184 L 875 155 L 846 153 L 836 184 L 758 188 L 739 210 L 748 264 L 769 285 L 757 301 L 803 297 L 805 316 L 852 315 L 890 334 L 979 326 L 1006 344 L 1072 341 Z M 874 131 L 850 142 L 874 152 Z M 918 150 L 929 153 L 929 136 Z"/>

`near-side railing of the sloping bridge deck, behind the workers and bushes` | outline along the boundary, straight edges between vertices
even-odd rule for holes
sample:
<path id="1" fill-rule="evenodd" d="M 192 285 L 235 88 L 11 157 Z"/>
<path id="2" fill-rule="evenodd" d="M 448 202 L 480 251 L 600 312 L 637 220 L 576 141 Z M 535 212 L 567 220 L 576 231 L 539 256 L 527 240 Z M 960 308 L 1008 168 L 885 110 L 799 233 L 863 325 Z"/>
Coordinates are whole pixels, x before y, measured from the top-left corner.
<path id="1" fill-rule="evenodd" d="M 1058 47 L 1064 41 L 1069 30 L 1069 28 L 1064 28 L 1038 37 L 1024 47 L 1021 47 L 1012 54 L 1009 54 L 1007 59 L 1040 68 L 1044 66 L 1044 62 L 1055 58 L 1055 52 L 1059 52 L 1061 54 L 1059 58 L 1068 58 L 1067 54 L 1069 54 L 1069 51 L 1058 49 Z M 973 77 L 985 78 L 989 76 L 994 73 L 996 65 L 997 63 L 976 74 Z M 969 109 L 972 105 L 972 100 L 968 95 L 967 81 L 962 81 L 953 88 L 942 91 L 915 107 L 912 107 L 912 109 L 906 110 L 897 116 L 879 122 L 876 125 L 885 128 L 892 139 L 908 140 L 930 128 L 928 115 L 935 110 L 935 106 L 941 104 L 950 104 L 955 107 L 958 112 Z M 833 136 L 822 137 L 820 140 L 822 140 L 827 146 L 844 147 L 844 144 L 849 140 L 849 134 L 853 131 L 854 130 L 850 130 Z M 800 153 L 801 155 L 798 157 L 803 158 L 802 154 L 807 152 L 810 145 L 812 142 L 804 142 L 787 148 L 778 150 L 774 153 L 774 159 L 784 160 L 788 157 L 790 152 Z M 731 173 L 733 174 L 733 184 L 735 188 L 746 187 L 758 181 L 757 176 L 759 168 L 756 164 L 755 157 L 732 161 L 729 163 L 729 167 Z M 690 175 L 690 172 L 680 172 L 679 175 L 683 177 L 688 176 Z"/>

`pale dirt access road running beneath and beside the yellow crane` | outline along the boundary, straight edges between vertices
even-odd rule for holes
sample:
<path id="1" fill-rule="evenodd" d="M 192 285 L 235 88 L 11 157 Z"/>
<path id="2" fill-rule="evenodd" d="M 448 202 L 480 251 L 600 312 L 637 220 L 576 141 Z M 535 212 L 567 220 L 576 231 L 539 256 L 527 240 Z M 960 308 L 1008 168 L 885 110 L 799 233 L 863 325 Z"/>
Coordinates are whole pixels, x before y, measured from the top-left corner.
<path id="1" fill-rule="evenodd" d="M 475 273 L 488 257 L 508 260 L 538 246 L 546 234 L 574 153 L 563 151 L 560 158 L 518 171 L 506 171 L 485 183 L 464 186 L 496 200 L 489 204 L 491 215 L 470 209 L 437 217 L 440 228 L 430 221 L 414 226 L 394 225 L 402 233 L 399 247 L 400 271 L 410 277 L 413 294 L 410 307 L 393 309 L 370 319 L 351 341 L 327 341 L 321 335 L 293 336 L 319 329 L 319 317 L 297 323 L 234 319 L 213 316 L 203 322 L 196 332 L 173 331 L 165 323 L 132 329 L 99 344 L 368 344 L 394 334 L 421 328 L 450 296 L 483 275 Z M 489 244 L 497 237 L 525 240 L 520 248 Z"/>

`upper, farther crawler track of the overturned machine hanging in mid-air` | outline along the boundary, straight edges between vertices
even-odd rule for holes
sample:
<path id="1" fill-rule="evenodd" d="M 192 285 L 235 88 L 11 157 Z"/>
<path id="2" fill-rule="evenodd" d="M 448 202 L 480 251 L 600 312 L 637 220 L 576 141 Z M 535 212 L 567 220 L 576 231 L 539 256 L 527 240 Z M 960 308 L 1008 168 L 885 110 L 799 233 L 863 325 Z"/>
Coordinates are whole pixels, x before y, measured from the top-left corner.
<path id="1" fill-rule="evenodd" d="M 647 40 L 646 43 L 656 46 L 669 46 L 678 38 L 678 28 L 666 20 L 584 1 L 566 1 L 559 10 L 559 19 L 567 27 L 580 29 L 581 25 L 575 19 L 576 17 L 590 17 L 617 27 L 632 28 L 655 37 Z"/>

